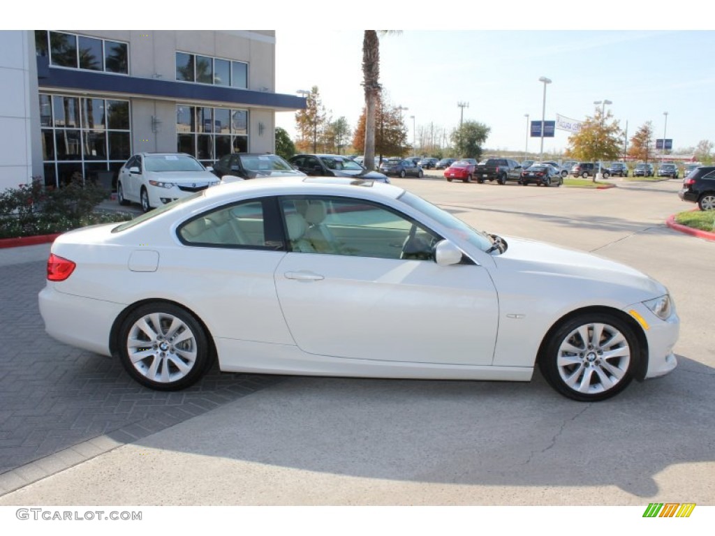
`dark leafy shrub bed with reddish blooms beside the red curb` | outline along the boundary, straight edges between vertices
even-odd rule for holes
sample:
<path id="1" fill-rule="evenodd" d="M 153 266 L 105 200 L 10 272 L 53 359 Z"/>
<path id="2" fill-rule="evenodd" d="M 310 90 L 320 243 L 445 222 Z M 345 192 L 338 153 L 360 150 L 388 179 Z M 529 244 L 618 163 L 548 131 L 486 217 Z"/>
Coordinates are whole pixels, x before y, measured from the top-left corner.
<path id="1" fill-rule="evenodd" d="M 21 184 L 0 194 L 0 239 L 55 234 L 87 225 L 123 222 L 131 214 L 95 212 L 107 190 L 76 179 L 53 189 L 41 182 Z"/>

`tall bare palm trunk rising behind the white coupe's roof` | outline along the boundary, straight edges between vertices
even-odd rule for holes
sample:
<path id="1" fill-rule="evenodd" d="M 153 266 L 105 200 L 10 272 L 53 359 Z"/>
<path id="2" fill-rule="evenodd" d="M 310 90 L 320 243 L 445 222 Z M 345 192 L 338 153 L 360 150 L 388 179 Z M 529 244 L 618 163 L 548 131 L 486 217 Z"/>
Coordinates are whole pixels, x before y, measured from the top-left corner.
<path id="1" fill-rule="evenodd" d="M 380 30 L 380 35 L 400 33 Z M 380 94 L 380 39 L 378 30 L 365 30 L 363 36 L 363 88 L 365 89 L 365 160 L 363 165 L 375 169 L 375 108 Z"/>

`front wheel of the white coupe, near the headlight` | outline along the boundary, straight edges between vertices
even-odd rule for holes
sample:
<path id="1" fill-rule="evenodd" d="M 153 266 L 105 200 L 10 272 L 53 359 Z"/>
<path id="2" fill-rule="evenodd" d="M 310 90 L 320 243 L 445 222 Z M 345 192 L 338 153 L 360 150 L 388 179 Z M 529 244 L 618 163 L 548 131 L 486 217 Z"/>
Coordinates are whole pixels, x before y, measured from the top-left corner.
<path id="1" fill-rule="evenodd" d="M 584 341 L 584 333 L 593 339 Z M 578 402 L 604 400 L 628 387 L 641 352 L 631 326 L 601 312 L 567 319 L 551 331 L 542 350 L 538 365 L 543 377 Z M 603 352 L 613 355 L 604 358 Z"/>

